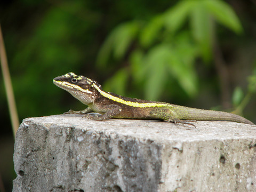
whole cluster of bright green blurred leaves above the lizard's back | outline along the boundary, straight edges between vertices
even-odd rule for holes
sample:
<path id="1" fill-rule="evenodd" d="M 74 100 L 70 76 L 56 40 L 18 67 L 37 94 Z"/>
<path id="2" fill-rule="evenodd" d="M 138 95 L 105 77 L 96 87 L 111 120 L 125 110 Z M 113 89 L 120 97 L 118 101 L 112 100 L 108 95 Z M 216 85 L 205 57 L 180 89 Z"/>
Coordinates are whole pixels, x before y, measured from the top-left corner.
<path id="1" fill-rule="evenodd" d="M 121 62 L 129 54 L 132 70 L 127 73 L 133 81 L 138 78 L 144 81 L 147 99 L 159 99 L 170 79 L 189 97 L 194 97 L 198 91 L 195 60 L 211 61 L 215 22 L 235 33 L 242 31 L 236 14 L 223 1 L 179 1 L 149 21 L 133 20 L 117 26 L 101 47 L 98 67 L 105 69 L 113 65 L 108 63 L 111 57 Z M 129 52 L 133 42 L 137 42 L 137 46 Z"/>

